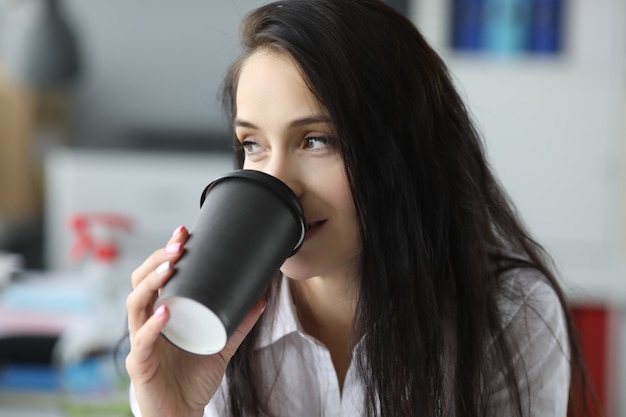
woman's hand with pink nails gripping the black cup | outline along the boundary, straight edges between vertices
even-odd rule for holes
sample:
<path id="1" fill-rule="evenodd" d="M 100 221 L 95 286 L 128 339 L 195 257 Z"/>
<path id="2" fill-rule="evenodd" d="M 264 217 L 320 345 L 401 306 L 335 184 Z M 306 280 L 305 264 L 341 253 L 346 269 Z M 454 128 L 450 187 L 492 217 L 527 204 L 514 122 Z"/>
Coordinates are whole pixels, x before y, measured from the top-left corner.
<path id="1" fill-rule="evenodd" d="M 132 275 L 133 291 L 127 299 L 131 349 L 126 368 L 142 417 L 202 416 L 226 371 L 228 361 L 263 312 L 260 300 L 218 354 L 187 353 L 161 336 L 169 319 L 163 306 L 153 312 L 159 290 L 172 276 L 189 237 L 176 229 L 167 246 L 155 251 Z"/>

